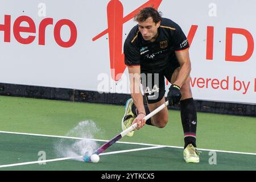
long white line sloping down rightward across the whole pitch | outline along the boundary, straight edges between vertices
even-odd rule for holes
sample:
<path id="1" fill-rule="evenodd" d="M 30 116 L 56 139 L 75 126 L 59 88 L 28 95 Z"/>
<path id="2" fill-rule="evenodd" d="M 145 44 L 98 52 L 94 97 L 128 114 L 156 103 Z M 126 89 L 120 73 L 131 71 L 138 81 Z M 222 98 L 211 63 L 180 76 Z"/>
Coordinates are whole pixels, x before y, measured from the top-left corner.
<path id="1" fill-rule="evenodd" d="M 44 135 L 44 134 L 32 134 L 32 133 L 18 133 L 18 132 L 11 132 L 11 131 L 0 131 L 0 133 L 7 133 L 7 134 L 18 134 L 18 135 L 32 135 L 32 136 L 38 136 L 38 137 L 54 137 L 54 138 L 68 138 L 68 139 L 89 139 L 89 138 L 79 138 L 79 137 L 67 137 L 67 136 L 58 136 L 58 135 Z M 109 140 L 101 140 L 101 139 L 90 139 L 98 142 L 108 142 Z M 170 147 L 170 148 L 183 148 L 178 146 L 164 146 L 159 144 L 148 144 L 148 143 L 135 143 L 135 142 L 116 142 L 116 143 L 125 143 L 125 144 L 138 144 L 142 146 L 162 146 L 162 147 Z M 224 153 L 230 153 L 230 154 L 245 154 L 245 155 L 256 155 L 256 153 L 250 153 L 250 152 L 237 152 L 237 151 L 226 151 L 226 150 L 214 150 L 214 149 L 205 149 L 205 148 L 197 148 L 201 151 L 214 151 L 214 152 L 224 152 Z"/>

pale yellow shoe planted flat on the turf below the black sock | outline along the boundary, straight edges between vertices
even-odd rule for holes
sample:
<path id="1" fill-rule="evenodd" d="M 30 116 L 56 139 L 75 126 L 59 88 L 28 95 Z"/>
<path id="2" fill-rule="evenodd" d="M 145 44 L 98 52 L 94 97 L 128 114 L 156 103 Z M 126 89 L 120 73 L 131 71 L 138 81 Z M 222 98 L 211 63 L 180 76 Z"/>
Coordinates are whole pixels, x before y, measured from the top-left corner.
<path id="1" fill-rule="evenodd" d="M 199 153 L 192 144 L 189 144 L 183 151 L 184 160 L 186 163 L 199 163 Z"/>

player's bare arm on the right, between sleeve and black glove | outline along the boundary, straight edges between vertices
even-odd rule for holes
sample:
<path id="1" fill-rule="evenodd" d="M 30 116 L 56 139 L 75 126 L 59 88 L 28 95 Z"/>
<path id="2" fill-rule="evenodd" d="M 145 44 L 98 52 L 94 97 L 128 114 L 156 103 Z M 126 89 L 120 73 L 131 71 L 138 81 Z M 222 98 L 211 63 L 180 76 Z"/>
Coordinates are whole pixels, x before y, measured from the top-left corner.
<path id="1" fill-rule="evenodd" d="M 184 51 L 175 52 L 175 55 L 180 64 L 180 72 L 179 75 L 177 75 L 174 84 L 181 88 L 181 86 L 184 84 L 185 80 L 187 80 L 191 72 L 191 61 L 189 59 L 188 49 L 185 49 Z"/>

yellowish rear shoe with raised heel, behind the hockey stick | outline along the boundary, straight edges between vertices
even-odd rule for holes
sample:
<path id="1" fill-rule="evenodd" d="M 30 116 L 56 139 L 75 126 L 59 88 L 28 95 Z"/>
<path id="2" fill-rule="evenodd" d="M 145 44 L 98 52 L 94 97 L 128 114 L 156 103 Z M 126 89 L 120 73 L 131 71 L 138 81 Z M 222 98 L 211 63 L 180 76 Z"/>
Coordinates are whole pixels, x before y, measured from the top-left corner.
<path id="1" fill-rule="evenodd" d="M 135 114 L 131 111 L 131 106 L 133 105 L 133 99 L 130 98 L 126 101 L 125 105 L 125 115 L 122 119 L 122 130 L 126 130 L 133 124 L 133 120 L 136 118 Z M 127 133 L 127 137 L 133 137 L 134 130 Z"/>

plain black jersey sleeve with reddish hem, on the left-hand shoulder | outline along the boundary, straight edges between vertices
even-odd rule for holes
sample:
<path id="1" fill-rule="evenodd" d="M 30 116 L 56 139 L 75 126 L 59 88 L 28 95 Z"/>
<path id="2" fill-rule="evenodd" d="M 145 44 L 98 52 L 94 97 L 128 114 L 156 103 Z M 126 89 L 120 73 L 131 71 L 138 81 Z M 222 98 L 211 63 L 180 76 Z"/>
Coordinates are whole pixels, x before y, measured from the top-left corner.
<path id="1" fill-rule="evenodd" d="M 131 42 L 125 41 L 123 52 L 127 67 L 139 67 L 141 65 L 139 50 Z"/>

